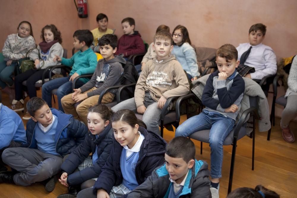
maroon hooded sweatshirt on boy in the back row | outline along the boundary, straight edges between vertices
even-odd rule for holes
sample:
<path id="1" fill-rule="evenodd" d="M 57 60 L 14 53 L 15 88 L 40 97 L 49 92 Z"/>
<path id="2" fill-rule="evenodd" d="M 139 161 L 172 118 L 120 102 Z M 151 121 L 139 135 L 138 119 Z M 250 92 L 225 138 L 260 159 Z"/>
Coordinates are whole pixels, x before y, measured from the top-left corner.
<path id="1" fill-rule="evenodd" d="M 124 54 L 124 57 L 145 53 L 143 40 L 138 31 L 134 31 L 134 34 L 131 35 L 124 34 L 121 36 L 118 40 L 118 50 L 116 51 L 116 54 L 121 53 Z"/>

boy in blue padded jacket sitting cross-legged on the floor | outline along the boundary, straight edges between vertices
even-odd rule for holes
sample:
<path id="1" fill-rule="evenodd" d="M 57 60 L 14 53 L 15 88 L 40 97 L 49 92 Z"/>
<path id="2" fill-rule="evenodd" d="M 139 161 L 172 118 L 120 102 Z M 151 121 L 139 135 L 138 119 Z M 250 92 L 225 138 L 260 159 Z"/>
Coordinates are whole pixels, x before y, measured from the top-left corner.
<path id="1" fill-rule="evenodd" d="M 7 148 L 2 160 L 15 171 L 0 173 L 0 183 L 29 186 L 49 179 L 45 190 L 55 188 L 63 156 L 71 153 L 84 139 L 88 128 L 72 115 L 50 109 L 43 99 L 33 97 L 27 103 L 31 118 L 27 123 L 27 144 Z"/>

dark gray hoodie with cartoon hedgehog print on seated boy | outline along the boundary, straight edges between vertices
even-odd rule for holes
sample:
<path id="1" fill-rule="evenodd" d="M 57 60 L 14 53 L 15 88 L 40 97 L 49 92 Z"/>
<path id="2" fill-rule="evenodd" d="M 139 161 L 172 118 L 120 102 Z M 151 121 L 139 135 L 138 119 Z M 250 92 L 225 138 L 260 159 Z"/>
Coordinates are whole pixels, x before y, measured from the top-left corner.
<path id="1" fill-rule="evenodd" d="M 124 71 L 122 64 L 126 64 L 123 55 L 115 56 L 109 61 L 105 61 L 105 58 L 100 59 L 91 80 L 80 87 L 81 92 L 96 87 L 97 89 L 87 93 L 88 97 L 91 97 L 100 95 L 107 87 L 120 85 L 119 79 Z M 116 90 L 111 90 L 110 92 L 115 94 Z"/>

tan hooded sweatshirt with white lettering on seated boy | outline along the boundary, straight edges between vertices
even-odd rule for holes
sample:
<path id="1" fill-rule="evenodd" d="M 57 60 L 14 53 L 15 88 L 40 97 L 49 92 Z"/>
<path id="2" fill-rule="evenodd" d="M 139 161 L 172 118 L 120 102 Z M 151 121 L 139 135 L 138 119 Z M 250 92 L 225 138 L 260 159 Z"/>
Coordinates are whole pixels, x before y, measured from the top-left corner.
<path id="1" fill-rule="evenodd" d="M 161 96 L 168 99 L 189 92 L 187 76 L 174 56 L 163 61 L 154 58 L 146 62 L 135 88 L 136 107 L 144 105 L 144 94 L 147 91 L 156 102 Z"/>

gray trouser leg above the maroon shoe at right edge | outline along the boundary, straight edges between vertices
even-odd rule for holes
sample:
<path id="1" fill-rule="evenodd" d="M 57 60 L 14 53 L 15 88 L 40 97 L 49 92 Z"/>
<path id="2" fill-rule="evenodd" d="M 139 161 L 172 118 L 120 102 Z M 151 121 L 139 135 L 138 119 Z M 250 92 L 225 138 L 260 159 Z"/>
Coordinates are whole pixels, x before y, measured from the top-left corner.
<path id="1" fill-rule="evenodd" d="M 281 126 L 287 127 L 290 121 L 293 120 L 297 115 L 297 96 L 291 95 L 287 98 L 287 105 L 282 111 Z"/>

